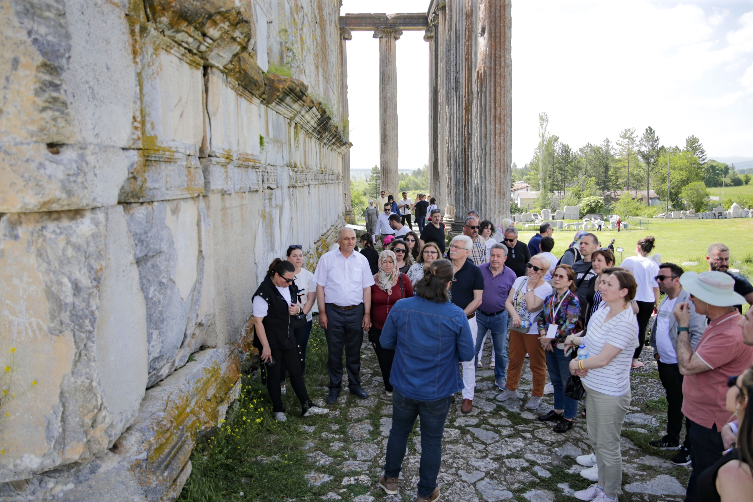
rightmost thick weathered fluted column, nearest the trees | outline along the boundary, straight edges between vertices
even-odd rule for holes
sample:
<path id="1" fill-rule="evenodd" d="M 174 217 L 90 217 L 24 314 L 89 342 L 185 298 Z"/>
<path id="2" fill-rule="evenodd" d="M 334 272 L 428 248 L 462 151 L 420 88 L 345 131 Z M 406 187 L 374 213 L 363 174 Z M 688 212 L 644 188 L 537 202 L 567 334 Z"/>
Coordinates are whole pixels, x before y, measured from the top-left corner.
<path id="1" fill-rule="evenodd" d="M 498 224 L 510 215 L 511 0 L 479 0 L 471 205 Z"/>

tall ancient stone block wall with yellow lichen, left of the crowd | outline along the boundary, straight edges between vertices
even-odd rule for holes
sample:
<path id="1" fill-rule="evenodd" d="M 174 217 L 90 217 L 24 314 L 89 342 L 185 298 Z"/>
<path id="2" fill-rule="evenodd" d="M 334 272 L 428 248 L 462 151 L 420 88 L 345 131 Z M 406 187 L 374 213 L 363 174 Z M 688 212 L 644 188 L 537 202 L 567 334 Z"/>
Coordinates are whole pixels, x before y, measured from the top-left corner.
<path id="1" fill-rule="evenodd" d="M 343 224 L 339 2 L 0 5 L 0 497 L 173 500 L 268 264 Z"/>

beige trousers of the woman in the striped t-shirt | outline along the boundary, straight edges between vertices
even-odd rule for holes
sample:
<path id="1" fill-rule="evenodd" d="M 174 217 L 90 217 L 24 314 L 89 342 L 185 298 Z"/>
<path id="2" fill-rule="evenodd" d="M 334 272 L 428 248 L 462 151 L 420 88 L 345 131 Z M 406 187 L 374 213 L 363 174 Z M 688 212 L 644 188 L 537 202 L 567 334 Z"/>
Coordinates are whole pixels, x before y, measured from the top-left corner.
<path id="1" fill-rule="evenodd" d="M 586 424 L 588 437 L 596 453 L 599 482 L 604 491 L 620 493 L 622 487 L 622 453 L 620 431 L 630 406 L 630 390 L 620 397 L 586 389 Z"/>

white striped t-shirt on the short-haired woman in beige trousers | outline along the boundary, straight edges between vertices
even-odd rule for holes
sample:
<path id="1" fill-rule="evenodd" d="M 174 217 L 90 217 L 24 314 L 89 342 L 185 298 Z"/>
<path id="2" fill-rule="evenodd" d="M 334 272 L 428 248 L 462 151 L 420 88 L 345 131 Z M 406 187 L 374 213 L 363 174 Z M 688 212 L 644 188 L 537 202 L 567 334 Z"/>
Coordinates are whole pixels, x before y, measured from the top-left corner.
<path id="1" fill-rule="evenodd" d="M 630 365 L 633 364 L 633 351 L 638 346 L 638 319 L 630 306 L 609 321 L 605 305 L 588 321 L 588 333 L 584 340 L 589 357 L 599 354 L 604 344 L 622 349 L 605 367 L 588 370 L 581 380 L 592 391 L 610 396 L 623 396 L 630 391 Z"/>

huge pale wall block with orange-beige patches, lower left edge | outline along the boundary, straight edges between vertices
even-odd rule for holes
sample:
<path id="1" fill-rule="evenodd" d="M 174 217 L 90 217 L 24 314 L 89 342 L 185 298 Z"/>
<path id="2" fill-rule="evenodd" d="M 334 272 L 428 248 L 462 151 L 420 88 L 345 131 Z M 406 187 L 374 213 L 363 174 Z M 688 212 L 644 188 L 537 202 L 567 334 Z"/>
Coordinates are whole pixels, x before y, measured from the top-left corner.
<path id="1" fill-rule="evenodd" d="M 0 219 L 0 353 L 17 350 L 29 390 L 0 429 L 0 480 L 102 455 L 136 417 L 147 343 L 133 250 L 120 206 Z"/>

